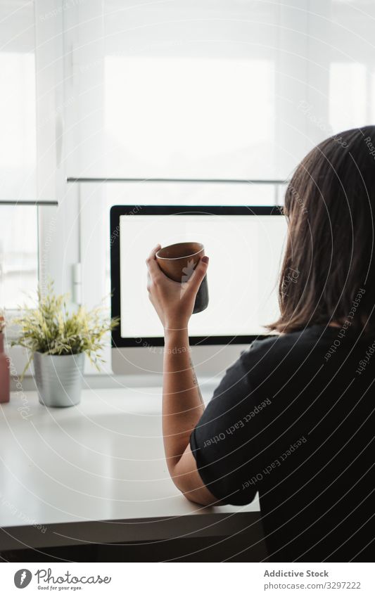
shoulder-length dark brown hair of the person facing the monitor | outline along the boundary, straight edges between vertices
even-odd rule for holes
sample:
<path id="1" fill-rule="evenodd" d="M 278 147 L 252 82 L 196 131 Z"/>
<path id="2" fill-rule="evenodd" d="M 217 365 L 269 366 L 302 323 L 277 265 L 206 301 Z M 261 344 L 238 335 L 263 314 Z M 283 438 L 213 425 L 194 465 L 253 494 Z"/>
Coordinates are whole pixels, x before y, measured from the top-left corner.
<path id="1" fill-rule="evenodd" d="M 345 321 L 375 333 L 375 127 L 319 143 L 286 189 L 281 316 L 267 326 L 291 332 Z"/>

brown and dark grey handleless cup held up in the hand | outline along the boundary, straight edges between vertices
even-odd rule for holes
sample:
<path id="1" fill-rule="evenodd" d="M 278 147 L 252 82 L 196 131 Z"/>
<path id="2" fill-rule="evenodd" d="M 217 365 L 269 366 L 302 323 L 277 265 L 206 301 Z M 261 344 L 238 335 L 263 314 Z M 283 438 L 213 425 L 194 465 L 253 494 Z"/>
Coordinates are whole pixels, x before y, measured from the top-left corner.
<path id="1" fill-rule="evenodd" d="M 175 282 L 185 283 L 205 254 L 201 243 L 176 243 L 159 249 L 156 261 L 163 273 Z M 193 313 L 200 313 L 208 306 L 207 276 L 201 282 Z"/>

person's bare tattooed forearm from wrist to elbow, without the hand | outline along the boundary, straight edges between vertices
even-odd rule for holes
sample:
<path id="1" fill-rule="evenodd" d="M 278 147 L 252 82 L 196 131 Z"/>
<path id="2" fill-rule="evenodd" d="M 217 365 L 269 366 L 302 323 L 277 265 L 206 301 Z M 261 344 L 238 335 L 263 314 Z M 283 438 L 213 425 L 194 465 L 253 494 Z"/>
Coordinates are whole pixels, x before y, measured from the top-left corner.
<path id="1" fill-rule="evenodd" d="M 191 431 L 204 410 L 191 362 L 188 330 L 165 333 L 163 372 L 163 437 L 170 473 L 184 453 Z"/>

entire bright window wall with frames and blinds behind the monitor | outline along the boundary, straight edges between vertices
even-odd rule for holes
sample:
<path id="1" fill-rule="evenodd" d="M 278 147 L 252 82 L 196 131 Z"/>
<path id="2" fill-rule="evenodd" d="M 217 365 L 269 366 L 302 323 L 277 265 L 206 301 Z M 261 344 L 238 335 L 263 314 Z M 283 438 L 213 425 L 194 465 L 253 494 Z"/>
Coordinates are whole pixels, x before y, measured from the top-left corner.
<path id="1" fill-rule="evenodd" d="M 6 305 L 38 269 L 71 291 L 77 262 L 84 302 L 108 295 L 111 205 L 279 204 L 312 146 L 374 119 L 369 0 L 45 8 L 0 0 Z"/>

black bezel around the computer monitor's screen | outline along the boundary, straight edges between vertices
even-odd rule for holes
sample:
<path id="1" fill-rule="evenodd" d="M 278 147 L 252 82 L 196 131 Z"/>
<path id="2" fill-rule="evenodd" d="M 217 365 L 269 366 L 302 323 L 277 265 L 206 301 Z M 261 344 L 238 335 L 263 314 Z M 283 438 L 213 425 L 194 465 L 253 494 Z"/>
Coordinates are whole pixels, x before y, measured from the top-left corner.
<path id="1" fill-rule="evenodd" d="M 279 205 L 113 205 L 110 208 L 110 283 L 111 283 L 111 315 L 121 317 L 121 285 L 120 285 L 120 216 L 132 215 L 283 215 L 283 208 Z M 237 335 L 237 336 L 190 336 L 193 346 L 249 344 L 253 340 L 266 338 L 267 335 Z M 158 347 L 164 346 L 162 335 L 148 338 L 126 337 L 121 335 L 121 323 L 112 330 L 112 346 L 127 347 Z"/>

